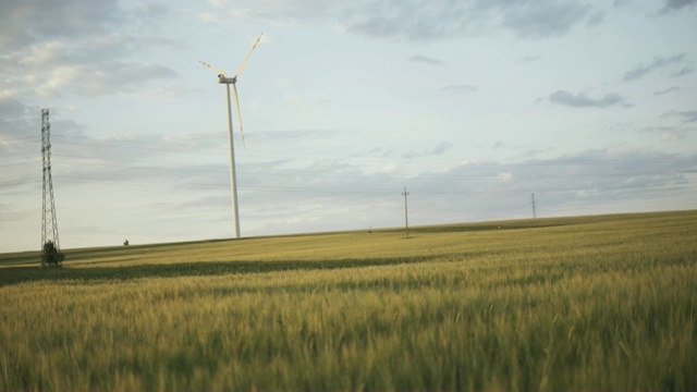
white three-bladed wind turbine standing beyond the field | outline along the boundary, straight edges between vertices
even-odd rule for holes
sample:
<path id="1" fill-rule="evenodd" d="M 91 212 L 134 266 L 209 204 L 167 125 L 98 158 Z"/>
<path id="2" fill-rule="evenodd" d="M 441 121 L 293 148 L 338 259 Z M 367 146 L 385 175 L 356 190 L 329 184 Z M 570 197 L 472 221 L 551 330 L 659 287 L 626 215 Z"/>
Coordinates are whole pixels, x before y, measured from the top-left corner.
<path id="1" fill-rule="evenodd" d="M 242 115 L 240 114 L 240 99 L 237 98 L 237 77 L 242 74 L 245 65 L 247 65 L 247 61 L 252 57 L 252 52 L 257 48 L 257 44 L 261 39 L 261 35 L 254 42 L 252 50 L 249 50 L 249 54 L 244 59 L 244 62 L 237 70 L 237 73 L 230 77 L 224 71 L 221 71 L 208 63 L 200 61 L 201 64 L 208 66 L 209 69 L 216 71 L 218 73 L 218 83 L 224 84 L 228 87 L 228 144 L 230 145 L 230 191 L 232 197 L 232 216 L 234 220 L 234 237 L 240 238 L 240 209 L 237 208 L 237 180 L 235 179 L 235 144 L 232 137 L 232 106 L 230 105 L 230 85 L 232 85 L 232 89 L 235 97 L 235 107 L 237 108 L 237 119 L 240 120 L 240 133 L 242 134 L 242 143 L 244 143 L 244 128 L 242 127 Z"/>

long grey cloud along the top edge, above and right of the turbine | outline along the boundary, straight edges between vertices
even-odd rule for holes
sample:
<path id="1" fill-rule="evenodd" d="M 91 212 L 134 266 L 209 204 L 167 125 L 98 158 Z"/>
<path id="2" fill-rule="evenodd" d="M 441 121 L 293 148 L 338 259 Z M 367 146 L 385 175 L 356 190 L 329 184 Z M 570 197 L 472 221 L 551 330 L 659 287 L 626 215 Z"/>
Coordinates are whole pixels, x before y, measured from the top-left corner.
<path id="1" fill-rule="evenodd" d="M 329 21 L 370 38 L 428 41 L 502 29 L 518 38 L 555 37 L 578 25 L 599 24 L 602 11 L 579 0 L 267 0 L 254 7 L 216 1 L 200 17 L 220 23 L 230 17 L 276 24 Z"/>

